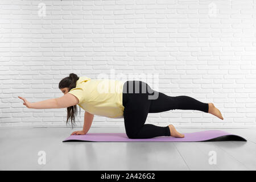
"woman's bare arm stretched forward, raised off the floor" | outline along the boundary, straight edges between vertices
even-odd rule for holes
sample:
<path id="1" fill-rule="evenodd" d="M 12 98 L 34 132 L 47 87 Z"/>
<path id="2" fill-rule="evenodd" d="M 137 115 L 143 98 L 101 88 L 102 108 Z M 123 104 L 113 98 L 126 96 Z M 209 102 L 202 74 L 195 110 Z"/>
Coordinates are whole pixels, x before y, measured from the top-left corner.
<path id="1" fill-rule="evenodd" d="M 23 105 L 30 109 L 58 109 L 79 104 L 79 99 L 70 93 L 60 98 L 51 98 L 40 102 L 28 102 L 25 98 L 19 97 L 24 101 Z"/>

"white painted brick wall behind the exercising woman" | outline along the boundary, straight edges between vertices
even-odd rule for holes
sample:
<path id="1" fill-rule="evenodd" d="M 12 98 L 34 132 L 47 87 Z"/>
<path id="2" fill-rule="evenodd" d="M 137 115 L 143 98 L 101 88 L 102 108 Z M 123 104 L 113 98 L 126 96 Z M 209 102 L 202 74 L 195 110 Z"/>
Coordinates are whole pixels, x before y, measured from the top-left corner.
<path id="1" fill-rule="evenodd" d="M 159 73 L 159 92 L 213 102 L 224 116 L 172 110 L 147 123 L 255 126 L 255 18 L 253 0 L 1 0 L 0 126 L 65 126 L 66 109 L 27 109 L 18 96 L 60 97 L 69 73 L 96 78 L 110 69 Z M 124 125 L 96 116 L 93 126 Z"/>

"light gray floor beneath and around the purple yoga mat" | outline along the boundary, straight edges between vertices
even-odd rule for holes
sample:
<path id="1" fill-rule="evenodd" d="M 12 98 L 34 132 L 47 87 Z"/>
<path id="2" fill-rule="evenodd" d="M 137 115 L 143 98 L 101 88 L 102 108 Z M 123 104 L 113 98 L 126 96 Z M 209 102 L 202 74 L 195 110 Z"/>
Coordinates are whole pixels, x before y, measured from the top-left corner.
<path id="1" fill-rule="evenodd" d="M 71 142 L 68 127 L 0 128 L 0 170 L 255 170 L 256 129 L 217 129 L 247 142 Z M 178 129 L 181 133 L 215 129 Z M 92 127 L 90 133 L 124 133 Z M 46 164 L 39 165 L 39 151 Z M 209 152 L 216 164 L 209 164 Z"/>

